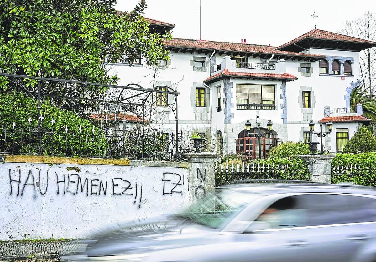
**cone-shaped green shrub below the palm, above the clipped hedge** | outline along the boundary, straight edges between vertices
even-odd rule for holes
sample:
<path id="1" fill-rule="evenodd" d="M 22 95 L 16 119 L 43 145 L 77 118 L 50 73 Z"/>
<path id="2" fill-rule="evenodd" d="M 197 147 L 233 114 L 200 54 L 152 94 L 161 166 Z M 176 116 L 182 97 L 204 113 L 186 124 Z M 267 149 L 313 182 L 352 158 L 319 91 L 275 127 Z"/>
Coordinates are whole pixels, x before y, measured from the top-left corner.
<path id="1" fill-rule="evenodd" d="M 355 134 L 344 147 L 343 153 L 376 152 L 376 137 L 365 126 L 359 126 Z"/>

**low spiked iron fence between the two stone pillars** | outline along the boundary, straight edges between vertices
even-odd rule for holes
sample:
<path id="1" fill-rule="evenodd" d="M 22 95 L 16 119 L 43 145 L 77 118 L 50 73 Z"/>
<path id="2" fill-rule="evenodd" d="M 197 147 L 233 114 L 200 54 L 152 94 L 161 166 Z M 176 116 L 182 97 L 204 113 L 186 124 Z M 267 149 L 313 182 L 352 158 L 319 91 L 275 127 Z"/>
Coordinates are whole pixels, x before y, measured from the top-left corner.
<path id="1" fill-rule="evenodd" d="M 262 163 L 251 163 L 248 162 L 242 166 L 234 166 L 232 164 L 230 167 L 228 164 L 223 166 L 223 163 L 218 165 L 215 164 L 215 187 L 221 185 L 241 183 L 241 181 L 261 179 L 261 180 L 309 180 L 309 175 L 296 176 L 291 175 L 294 169 L 291 169 L 289 164 L 279 165 L 279 164 L 267 164 Z"/>

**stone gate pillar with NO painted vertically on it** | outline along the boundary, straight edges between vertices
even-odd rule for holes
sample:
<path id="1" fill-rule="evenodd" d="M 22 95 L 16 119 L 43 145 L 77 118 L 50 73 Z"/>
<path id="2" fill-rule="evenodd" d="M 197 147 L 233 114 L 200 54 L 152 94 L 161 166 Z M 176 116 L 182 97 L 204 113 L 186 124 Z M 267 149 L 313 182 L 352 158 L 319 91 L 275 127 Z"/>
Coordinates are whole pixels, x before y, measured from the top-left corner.
<path id="1" fill-rule="evenodd" d="M 217 157 L 218 154 L 208 152 L 183 154 L 183 158 L 191 162 L 188 182 L 190 203 L 214 190 L 214 168 Z"/>

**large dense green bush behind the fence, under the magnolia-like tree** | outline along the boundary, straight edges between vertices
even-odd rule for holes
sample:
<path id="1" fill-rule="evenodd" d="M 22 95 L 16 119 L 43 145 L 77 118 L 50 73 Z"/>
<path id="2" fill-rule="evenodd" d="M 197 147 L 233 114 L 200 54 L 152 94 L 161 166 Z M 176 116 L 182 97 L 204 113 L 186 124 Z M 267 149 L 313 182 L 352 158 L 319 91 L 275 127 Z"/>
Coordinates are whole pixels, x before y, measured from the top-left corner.
<path id="1" fill-rule="evenodd" d="M 105 154 L 106 139 L 103 132 L 94 127 L 89 120 L 73 112 L 54 107 L 49 101 L 42 102 L 41 114 L 44 117 L 41 127 L 43 131 L 41 154 L 61 156 Z M 28 122 L 29 117 L 31 123 Z M 0 144 L 2 147 L 4 146 L 8 152 L 38 153 L 39 134 L 33 132 L 38 130 L 38 117 L 38 102 L 32 97 L 20 92 L 0 93 Z M 52 118 L 54 123 L 51 122 Z M 13 122 L 15 123 L 14 129 Z M 7 129 L 6 136 L 5 128 Z"/>

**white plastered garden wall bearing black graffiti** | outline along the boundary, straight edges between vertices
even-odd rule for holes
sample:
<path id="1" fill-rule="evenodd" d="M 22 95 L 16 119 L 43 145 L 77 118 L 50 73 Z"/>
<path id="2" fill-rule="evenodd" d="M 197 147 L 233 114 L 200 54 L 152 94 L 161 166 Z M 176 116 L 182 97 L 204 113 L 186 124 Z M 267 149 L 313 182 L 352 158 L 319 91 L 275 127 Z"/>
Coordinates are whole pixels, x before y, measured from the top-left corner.
<path id="1" fill-rule="evenodd" d="M 5 162 L 0 239 L 82 238 L 109 224 L 188 206 L 189 169 L 160 165 L 165 167 Z"/>

